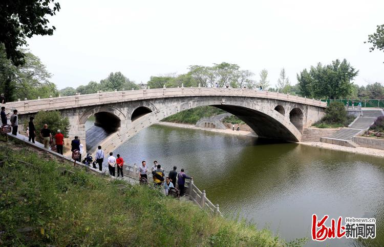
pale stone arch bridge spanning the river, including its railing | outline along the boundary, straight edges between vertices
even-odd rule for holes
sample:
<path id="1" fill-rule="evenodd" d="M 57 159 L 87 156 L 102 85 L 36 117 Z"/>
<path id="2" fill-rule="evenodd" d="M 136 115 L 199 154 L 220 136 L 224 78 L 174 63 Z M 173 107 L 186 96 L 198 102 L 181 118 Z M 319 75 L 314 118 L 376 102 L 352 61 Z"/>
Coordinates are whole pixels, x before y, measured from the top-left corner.
<path id="1" fill-rule="evenodd" d="M 89 116 L 95 115 L 95 126 L 109 135 L 88 145 L 88 152 L 95 152 L 97 145 L 105 152 L 113 151 L 140 130 L 198 106 L 214 106 L 238 116 L 259 137 L 300 141 L 303 127 L 321 119 L 327 103 L 251 89 L 181 87 L 99 92 L 6 104 L 7 111 L 18 110 L 20 124 L 38 111 L 60 111 L 70 119 L 69 139 L 77 135 L 82 143 L 86 142 L 84 124 Z"/>

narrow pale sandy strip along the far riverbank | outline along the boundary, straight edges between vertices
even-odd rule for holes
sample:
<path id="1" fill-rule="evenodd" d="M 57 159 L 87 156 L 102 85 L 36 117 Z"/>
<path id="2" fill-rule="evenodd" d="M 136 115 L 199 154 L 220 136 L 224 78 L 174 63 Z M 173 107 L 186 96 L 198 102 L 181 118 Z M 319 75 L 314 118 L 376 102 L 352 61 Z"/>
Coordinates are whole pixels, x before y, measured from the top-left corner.
<path id="1" fill-rule="evenodd" d="M 194 129 L 194 130 L 205 130 L 205 131 L 211 131 L 211 132 L 226 133 L 226 134 L 231 134 L 231 135 L 257 137 L 256 134 L 249 132 L 249 131 L 232 131 L 230 129 L 219 130 L 219 129 L 201 128 L 201 127 L 196 127 L 194 125 L 176 124 L 175 122 L 159 122 L 158 124 L 163 125 L 163 126 L 187 128 L 187 129 Z M 350 152 L 350 153 L 355 153 L 355 154 L 384 157 L 384 150 L 369 149 L 368 147 L 353 148 L 353 147 L 348 147 L 348 146 L 333 145 L 333 144 L 324 143 L 324 142 L 298 142 L 298 143 L 303 144 L 303 145 L 321 147 L 322 149 L 338 150 L 338 151 Z"/>

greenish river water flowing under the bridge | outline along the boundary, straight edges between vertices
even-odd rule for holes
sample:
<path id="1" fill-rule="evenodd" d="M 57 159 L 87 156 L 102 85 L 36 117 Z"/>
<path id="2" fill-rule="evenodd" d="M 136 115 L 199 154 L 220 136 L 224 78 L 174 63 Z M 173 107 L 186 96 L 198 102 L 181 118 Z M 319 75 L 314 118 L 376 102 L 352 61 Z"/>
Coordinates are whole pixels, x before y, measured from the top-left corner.
<path id="1" fill-rule="evenodd" d="M 124 161 L 184 168 L 230 218 L 307 246 L 384 246 L 384 159 L 296 143 L 155 125 L 118 147 Z M 375 217 L 376 238 L 311 240 L 312 214 Z M 343 222 L 344 224 L 344 222 Z M 330 219 L 326 226 L 330 227 Z"/>

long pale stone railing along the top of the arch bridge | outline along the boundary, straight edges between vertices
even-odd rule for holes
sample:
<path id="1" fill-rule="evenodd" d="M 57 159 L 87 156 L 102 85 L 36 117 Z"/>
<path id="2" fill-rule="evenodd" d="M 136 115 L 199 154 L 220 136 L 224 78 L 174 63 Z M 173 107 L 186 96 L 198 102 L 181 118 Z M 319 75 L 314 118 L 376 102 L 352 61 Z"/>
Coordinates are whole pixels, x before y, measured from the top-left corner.
<path id="1" fill-rule="evenodd" d="M 202 88 L 202 87 L 178 87 L 178 88 L 156 88 L 141 89 L 130 91 L 112 91 L 98 92 L 92 94 L 49 97 L 38 100 L 24 100 L 9 102 L 5 106 L 8 109 L 17 109 L 19 114 L 34 113 L 40 110 L 61 110 L 77 107 L 86 107 L 94 105 L 111 104 L 118 102 L 145 100 L 151 98 L 167 98 L 167 97 L 190 97 L 190 96 L 243 96 L 269 98 L 272 100 L 289 101 L 306 105 L 327 107 L 326 102 L 299 97 L 278 92 L 268 92 L 253 89 L 239 88 Z"/>

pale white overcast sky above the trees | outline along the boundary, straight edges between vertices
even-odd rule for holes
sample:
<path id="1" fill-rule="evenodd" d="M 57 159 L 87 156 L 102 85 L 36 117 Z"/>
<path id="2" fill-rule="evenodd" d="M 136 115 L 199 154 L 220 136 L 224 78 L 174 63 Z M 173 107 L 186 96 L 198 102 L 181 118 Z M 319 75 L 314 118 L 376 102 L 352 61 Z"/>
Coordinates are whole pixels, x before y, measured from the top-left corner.
<path id="1" fill-rule="evenodd" d="M 384 82 L 384 53 L 364 44 L 384 24 L 384 1 L 90 1 L 60 0 L 53 36 L 28 41 L 58 88 L 99 82 L 121 71 L 136 83 L 189 65 L 229 62 L 272 86 L 346 58 L 355 83 Z"/>

